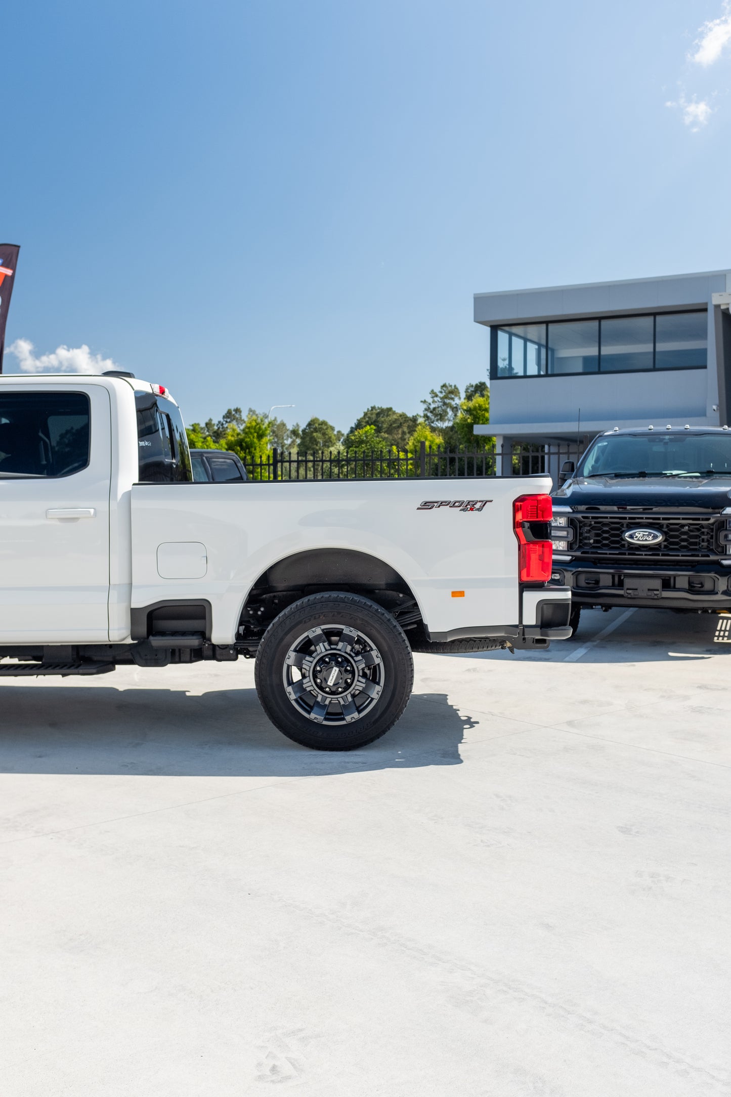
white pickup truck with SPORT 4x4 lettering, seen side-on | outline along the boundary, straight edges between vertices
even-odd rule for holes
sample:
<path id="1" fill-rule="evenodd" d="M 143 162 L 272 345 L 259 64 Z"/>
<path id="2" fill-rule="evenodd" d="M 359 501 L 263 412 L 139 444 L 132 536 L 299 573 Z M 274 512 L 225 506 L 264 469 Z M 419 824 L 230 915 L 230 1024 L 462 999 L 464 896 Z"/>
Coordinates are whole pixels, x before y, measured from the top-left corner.
<path id="1" fill-rule="evenodd" d="M 178 405 L 119 373 L 0 377 L 0 676 L 256 658 L 308 747 L 399 719 L 412 651 L 547 646 L 547 476 L 194 483 Z M 471 496 L 472 498 L 468 498 Z"/>

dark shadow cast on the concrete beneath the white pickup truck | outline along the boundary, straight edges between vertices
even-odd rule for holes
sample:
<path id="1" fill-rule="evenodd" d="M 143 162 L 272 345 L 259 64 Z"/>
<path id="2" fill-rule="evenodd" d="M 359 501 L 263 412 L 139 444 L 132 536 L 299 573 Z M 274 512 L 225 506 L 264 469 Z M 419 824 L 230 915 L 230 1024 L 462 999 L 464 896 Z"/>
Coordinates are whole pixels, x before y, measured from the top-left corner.
<path id="1" fill-rule="evenodd" d="M 414 693 L 370 746 L 308 750 L 282 735 L 253 689 L 0 686 L 0 772 L 170 777 L 308 777 L 460 765 L 476 726 L 444 693 Z"/>

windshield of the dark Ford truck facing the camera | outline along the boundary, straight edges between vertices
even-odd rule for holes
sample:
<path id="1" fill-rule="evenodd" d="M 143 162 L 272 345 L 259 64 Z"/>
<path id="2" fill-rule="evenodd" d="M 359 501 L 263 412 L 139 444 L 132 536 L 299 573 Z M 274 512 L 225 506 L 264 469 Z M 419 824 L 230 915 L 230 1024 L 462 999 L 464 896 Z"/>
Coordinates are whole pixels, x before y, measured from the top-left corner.
<path id="1" fill-rule="evenodd" d="M 597 438 L 580 476 L 730 476 L 728 434 L 617 434 Z"/>

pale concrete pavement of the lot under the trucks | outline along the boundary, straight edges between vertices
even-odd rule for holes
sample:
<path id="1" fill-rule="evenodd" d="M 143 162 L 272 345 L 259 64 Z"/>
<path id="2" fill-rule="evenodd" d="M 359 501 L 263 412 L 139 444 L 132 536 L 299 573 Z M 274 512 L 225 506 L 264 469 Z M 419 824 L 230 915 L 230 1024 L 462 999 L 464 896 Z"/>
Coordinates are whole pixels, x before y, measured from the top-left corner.
<path id="1" fill-rule="evenodd" d="M 3 680 L 3 1097 L 728 1094 L 731 619 L 619 615 L 347 755 L 250 663 Z"/>

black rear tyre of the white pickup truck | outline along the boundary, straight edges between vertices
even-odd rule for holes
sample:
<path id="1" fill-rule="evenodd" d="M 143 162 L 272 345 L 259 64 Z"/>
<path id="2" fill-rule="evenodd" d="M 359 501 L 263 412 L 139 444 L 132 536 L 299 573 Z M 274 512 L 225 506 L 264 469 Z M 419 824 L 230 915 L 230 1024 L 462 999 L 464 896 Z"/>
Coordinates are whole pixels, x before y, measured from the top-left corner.
<path id="1" fill-rule="evenodd" d="M 380 685 L 372 687 L 378 695 L 375 700 L 366 698 L 365 703 L 361 702 L 364 714 L 350 716 L 352 723 L 316 723 L 311 716 L 299 711 L 297 702 L 287 692 L 287 675 L 290 672 L 287 660 L 293 658 L 293 652 L 297 652 L 297 645 L 299 649 L 307 647 L 310 631 L 324 626 L 346 629 L 349 636 L 357 633 L 370 644 L 367 654 L 379 660 L 377 671 L 366 671 L 380 674 Z M 336 633 L 330 635 L 336 636 Z M 330 647 L 324 654 L 330 652 L 338 656 L 338 652 Z M 298 657 L 301 658 L 301 655 Z M 307 655 L 310 664 L 315 658 L 316 655 Z M 380 738 L 402 714 L 413 686 L 413 659 L 403 630 L 390 613 L 362 595 L 328 591 L 301 598 L 272 621 L 259 645 L 254 679 L 264 712 L 287 738 L 313 750 L 354 750 Z M 315 677 L 307 680 L 313 681 Z M 289 690 L 292 692 L 292 686 Z M 355 702 L 363 697 L 363 693 L 357 693 Z M 332 700 L 336 703 L 327 708 L 325 721 L 338 715 L 338 699 Z M 302 702 L 306 703 L 309 703 L 309 695 Z M 331 709 L 335 710 L 334 715 Z"/>

